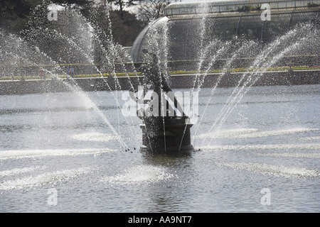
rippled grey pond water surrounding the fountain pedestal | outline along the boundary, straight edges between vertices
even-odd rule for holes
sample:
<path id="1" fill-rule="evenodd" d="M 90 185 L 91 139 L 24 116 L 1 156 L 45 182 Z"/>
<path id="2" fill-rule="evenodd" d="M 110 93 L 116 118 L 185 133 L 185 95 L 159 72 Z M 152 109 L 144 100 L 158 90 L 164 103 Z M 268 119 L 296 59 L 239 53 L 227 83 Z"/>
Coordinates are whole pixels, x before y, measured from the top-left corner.
<path id="1" fill-rule="evenodd" d="M 140 153 L 139 118 L 109 92 L 87 94 L 128 148 L 77 94 L 0 96 L 0 211 L 319 211 L 320 86 L 252 87 L 210 131 L 230 89 L 215 91 L 183 156 Z"/>

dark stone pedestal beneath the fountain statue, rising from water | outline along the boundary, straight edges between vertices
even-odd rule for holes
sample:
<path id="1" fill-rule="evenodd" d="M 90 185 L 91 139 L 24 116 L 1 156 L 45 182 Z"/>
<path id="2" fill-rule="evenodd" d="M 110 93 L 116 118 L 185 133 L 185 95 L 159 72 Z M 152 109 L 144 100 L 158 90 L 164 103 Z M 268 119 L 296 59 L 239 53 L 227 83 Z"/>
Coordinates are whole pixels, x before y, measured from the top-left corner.
<path id="1" fill-rule="evenodd" d="M 142 128 L 142 152 L 149 153 L 191 153 L 189 118 L 149 117 L 144 118 Z"/>

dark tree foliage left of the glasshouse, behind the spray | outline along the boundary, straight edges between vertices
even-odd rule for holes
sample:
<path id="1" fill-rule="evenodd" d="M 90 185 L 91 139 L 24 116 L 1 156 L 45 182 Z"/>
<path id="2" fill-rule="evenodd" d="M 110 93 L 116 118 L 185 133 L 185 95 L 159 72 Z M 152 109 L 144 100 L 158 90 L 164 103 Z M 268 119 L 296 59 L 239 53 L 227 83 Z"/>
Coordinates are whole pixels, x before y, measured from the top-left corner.
<path id="1" fill-rule="evenodd" d="M 139 21 L 135 14 L 123 11 L 124 6 L 133 5 L 134 2 L 117 0 L 116 4 L 122 4 L 122 8 L 120 8 L 122 12 L 115 10 L 106 13 L 102 6 L 95 4 L 94 0 L 1 0 L 0 28 L 11 33 L 20 33 L 23 36 L 28 36 L 30 40 L 35 40 L 36 37 L 32 37 L 32 35 L 41 35 L 39 32 L 41 29 L 52 26 L 52 23 L 47 19 L 47 7 L 54 3 L 76 7 L 91 23 L 99 26 L 103 33 L 110 33 L 108 30 L 111 21 L 114 41 L 123 46 L 130 46 L 144 27 L 144 23 Z M 34 29 L 37 31 L 33 32 Z M 41 38 L 36 39 L 40 40 Z"/>

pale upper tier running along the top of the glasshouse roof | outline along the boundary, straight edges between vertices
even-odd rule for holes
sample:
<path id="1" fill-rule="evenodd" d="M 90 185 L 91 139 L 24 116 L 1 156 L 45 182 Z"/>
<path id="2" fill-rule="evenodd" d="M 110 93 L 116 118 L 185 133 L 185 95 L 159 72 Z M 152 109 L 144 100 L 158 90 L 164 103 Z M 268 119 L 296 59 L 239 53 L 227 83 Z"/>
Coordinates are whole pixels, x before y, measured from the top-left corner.
<path id="1" fill-rule="evenodd" d="M 260 10 L 262 4 L 270 4 L 271 9 L 320 6 L 320 0 L 216 0 L 173 3 L 166 6 L 166 16 L 217 13 L 232 11 Z"/>

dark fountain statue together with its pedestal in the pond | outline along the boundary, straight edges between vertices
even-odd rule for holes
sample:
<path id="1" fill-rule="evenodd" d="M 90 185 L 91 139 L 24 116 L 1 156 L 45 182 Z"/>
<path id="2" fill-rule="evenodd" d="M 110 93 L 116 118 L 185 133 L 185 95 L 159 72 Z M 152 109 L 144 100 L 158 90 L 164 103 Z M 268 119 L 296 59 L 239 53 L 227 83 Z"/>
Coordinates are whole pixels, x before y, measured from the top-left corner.
<path id="1" fill-rule="evenodd" d="M 154 92 L 151 100 L 144 100 L 146 109 L 139 109 L 137 112 L 143 121 L 140 125 L 142 128 L 141 150 L 151 153 L 190 153 L 193 151 L 190 118 L 183 112 L 181 104 L 174 96 L 164 75 L 159 72 L 157 55 L 146 49 L 144 52 L 152 56 L 152 62 L 143 70 L 144 86 L 151 82 L 154 84 Z M 171 113 L 169 100 L 164 99 L 164 92 L 171 94 L 168 96 L 174 103 Z M 139 101 L 139 99 L 136 100 Z"/>

